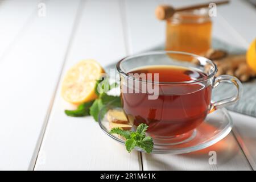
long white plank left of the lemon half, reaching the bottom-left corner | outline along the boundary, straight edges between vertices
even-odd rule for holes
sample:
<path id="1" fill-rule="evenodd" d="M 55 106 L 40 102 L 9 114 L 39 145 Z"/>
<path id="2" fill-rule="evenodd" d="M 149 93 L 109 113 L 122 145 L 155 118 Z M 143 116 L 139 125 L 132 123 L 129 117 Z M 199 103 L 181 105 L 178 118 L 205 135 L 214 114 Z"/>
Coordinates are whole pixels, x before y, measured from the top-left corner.
<path id="1" fill-rule="evenodd" d="M 0 61 L 0 169 L 34 166 L 79 1 L 48 1 L 46 6 L 47 16 L 39 18 L 35 11 Z"/>

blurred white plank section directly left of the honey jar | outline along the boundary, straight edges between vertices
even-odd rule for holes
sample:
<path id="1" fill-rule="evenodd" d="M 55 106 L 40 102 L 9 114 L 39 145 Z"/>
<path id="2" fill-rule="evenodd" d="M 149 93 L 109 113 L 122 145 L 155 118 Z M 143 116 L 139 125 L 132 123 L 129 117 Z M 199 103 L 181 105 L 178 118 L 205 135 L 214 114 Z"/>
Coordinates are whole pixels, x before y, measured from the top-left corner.
<path id="1" fill-rule="evenodd" d="M 125 1 L 129 54 L 163 44 L 165 24 L 155 18 L 158 1 Z"/>

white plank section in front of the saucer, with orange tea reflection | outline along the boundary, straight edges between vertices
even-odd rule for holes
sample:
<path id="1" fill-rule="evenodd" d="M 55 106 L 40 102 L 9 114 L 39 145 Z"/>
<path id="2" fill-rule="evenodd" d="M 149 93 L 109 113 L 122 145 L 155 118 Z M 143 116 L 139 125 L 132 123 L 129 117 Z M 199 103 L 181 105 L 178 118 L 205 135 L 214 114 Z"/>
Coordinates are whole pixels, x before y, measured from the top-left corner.
<path id="1" fill-rule="evenodd" d="M 209 164 L 212 156 L 210 151 L 216 152 L 217 164 Z M 142 155 L 144 170 L 250 170 L 245 156 L 230 134 L 220 142 L 204 150 L 183 155 Z"/>

